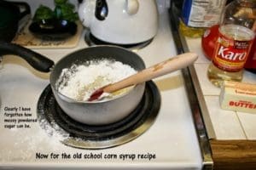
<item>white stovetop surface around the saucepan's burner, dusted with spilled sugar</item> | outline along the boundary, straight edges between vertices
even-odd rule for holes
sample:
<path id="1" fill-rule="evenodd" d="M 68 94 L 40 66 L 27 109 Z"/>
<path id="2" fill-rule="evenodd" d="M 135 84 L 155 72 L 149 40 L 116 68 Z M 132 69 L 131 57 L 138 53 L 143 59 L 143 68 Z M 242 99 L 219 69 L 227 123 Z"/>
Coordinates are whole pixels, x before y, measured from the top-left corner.
<path id="1" fill-rule="evenodd" d="M 148 46 L 136 51 L 147 66 L 176 55 L 167 11 Z M 79 48 L 34 49 L 57 61 Z M 181 71 L 154 80 L 160 111 L 140 136 L 108 149 L 78 149 L 61 143 L 58 133 L 43 129 L 38 99 L 49 74 L 35 71 L 17 56 L 3 56 L 0 70 L 0 169 L 201 169 L 201 149 Z"/>

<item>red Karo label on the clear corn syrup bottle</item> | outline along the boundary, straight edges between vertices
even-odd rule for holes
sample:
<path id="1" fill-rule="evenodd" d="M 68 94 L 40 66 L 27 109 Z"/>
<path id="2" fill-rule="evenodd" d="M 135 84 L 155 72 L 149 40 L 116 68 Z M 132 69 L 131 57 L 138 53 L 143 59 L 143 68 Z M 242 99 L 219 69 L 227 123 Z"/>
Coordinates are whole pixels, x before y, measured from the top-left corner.
<path id="1" fill-rule="evenodd" d="M 241 71 L 253 40 L 235 40 L 219 33 L 212 63 L 223 71 Z"/>

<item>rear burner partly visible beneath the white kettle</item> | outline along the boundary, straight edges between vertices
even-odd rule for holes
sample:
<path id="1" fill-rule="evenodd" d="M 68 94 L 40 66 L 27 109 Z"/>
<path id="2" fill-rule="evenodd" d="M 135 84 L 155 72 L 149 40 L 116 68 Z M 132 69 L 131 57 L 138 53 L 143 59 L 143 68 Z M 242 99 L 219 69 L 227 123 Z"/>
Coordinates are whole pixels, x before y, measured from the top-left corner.
<path id="1" fill-rule="evenodd" d="M 117 43 L 111 43 L 111 42 L 104 42 L 95 36 L 93 36 L 90 31 L 85 32 L 84 41 L 88 44 L 88 46 L 94 46 L 94 45 L 115 45 L 122 48 L 130 48 L 130 49 L 140 49 L 146 47 L 150 42 L 153 41 L 152 39 L 149 39 L 145 42 L 140 43 L 133 43 L 133 44 L 117 44 Z"/>

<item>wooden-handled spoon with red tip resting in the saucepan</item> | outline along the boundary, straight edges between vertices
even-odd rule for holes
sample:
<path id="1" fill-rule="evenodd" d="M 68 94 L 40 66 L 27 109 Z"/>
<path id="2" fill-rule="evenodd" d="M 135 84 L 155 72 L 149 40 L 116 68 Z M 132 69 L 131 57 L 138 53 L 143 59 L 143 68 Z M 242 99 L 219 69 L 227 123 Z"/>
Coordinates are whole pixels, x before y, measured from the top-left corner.
<path id="1" fill-rule="evenodd" d="M 142 82 L 147 82 L 155 77 L 160 77 L 172 71 L 182 69 L 194 63 L 197 57 L 198 56 L 195 53 L 179 54 L 171 59 L 167 59 L 156 65 L 152 65 L 143 71 L 139 71 L 137 74 L 126 77 L 119 82 L 114 82 L 113 84 L 108 84 L 107 86 L 97 89 L 90 95 L 90 99 L 88 99 L 88 101 L 99 99 L 103 93 L 110 94 L 119 89 L 127 88 Z"/>

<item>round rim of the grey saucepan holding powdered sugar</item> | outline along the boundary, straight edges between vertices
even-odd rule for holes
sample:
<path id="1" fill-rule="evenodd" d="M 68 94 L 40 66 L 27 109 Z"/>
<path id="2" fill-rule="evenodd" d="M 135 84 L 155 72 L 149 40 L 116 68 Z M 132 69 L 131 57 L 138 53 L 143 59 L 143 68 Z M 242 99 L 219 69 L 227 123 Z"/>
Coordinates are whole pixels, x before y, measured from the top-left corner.
<path id="1" fill-rule="evenodd" d="M 93 105 L 93 104 L 99 104 L 99 103 L 108 103 L 108 102 L 112 102 L 112 101 L 114 101 L 114 100 L 116 100 L 116 99 L 123 98 L 123 97 L 125 97 L 125 96 L 128 95 L 128 94 L 131 94 L 131 91 L 133 91 L 135 88 L 139 88 L 139 86 L 143 86 L 143 87 L 145 86 L 145 82 L 139 83 L 139 84 L 134 85 L 133 87 L 131 87 L 131 89 L 130 89 L 128 92 L 124 93 L 124 94 L 120 94 L 120 95 L 115 96 L 115 97 L 113 97 L 113 98 L 111 98 L 111 99 L 94 100 L 94 101 L 85 101 L 85 100 L 73 99 L 73 98 L 67 97 L 67 96 L 64 95 L 64 94 L 61 94 L 61 93 L 59 92 L 59 90 L 58 90 L 58 89 L 56 88 L 56 86 L 55 86 L 55 82 L 56 82 L 56 81 L 53 80 L 54 78 L 53 78 L 53 74 L 52 74 L 52 73 L 55 71 L 55 67 L 58 66 L 59 63 L 65 61 L 65 59 L 67 59 L 68 56 L 73 55 L 73 54 L 75 54 L 75 53 L 78 53 L 79 51 L 83 51 L 83 50 L 89 49 L 89 48 L 119 48 L 119 49 L 121 49 L 121 50 L 124 50 L 125 52 L 131 53 L 131 54 L 133 54 L 133 55 L 137 55 L 138 59 L 140 60 L 141 64 L 143 65 L 143 67 L 144 67 L 144 68 L 146 67 L 146 65 L 145 65 L 145 63 L 144 63 L 144 61 L 143 61 L 143 59 L 142 59 L 138 54 L 132 52 L 130 49 L 127 49 L 127 48 L 122 48 L 122 47 L 119 47 L 119 46 L 108 45 L 108 44 L 107 44 L 107 45 L 96 45 L 96 46 L 90 46 L 90 47 L 87 47 L 87 48 L 78 49 L 78 50 L 76 50 L 76 51 L 73 51 L 73 52 L 70 53 L 70 54 L 65 55 L 65 56 L 62 57 L 60 60 L 58 60 L 58 61 L 55 63 L 55 65 L 53 66 L 52 70 L 50 71 L 50 75 L 49 75 L 50 87 L 51 87 L 53 90 L 55 90 L 55 92 L 57 93 L 57 95 L 59 95 L 59 96 L 61 97 L 61 99 L 64 99 L 65 101 L 67 101 L 67 102 L 69 102 L 69 103 L 79 103 L 79 104 L 92 104 L 92 105 Z M 64 69 L 64 68 L 62 68 L 62 70 L 63 70 L 63 69 Z"/>

